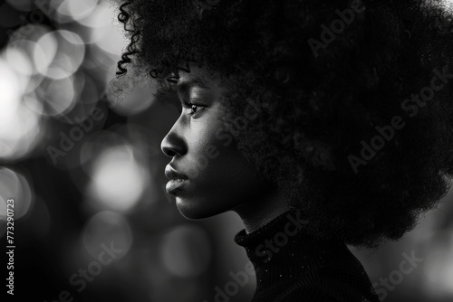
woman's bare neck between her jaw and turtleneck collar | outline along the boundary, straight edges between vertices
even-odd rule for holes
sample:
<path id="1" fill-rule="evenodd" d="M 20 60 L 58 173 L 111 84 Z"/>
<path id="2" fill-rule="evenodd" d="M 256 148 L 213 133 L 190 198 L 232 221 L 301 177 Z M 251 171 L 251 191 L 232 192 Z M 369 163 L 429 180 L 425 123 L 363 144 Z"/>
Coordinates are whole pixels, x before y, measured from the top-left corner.
<path id="1" fill-rule="evenodd" d="M 254 201 L 234 209 L 244 222 L 247 234 L 258 230 L 288 210 L 290 207 L 287 205 L 283 193 L 278 190 L 266 193 L 265 197 L 255 198 Z"/>

